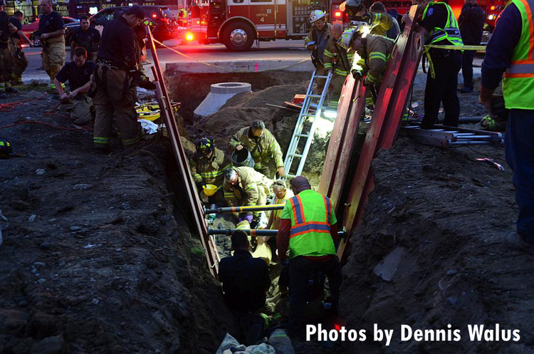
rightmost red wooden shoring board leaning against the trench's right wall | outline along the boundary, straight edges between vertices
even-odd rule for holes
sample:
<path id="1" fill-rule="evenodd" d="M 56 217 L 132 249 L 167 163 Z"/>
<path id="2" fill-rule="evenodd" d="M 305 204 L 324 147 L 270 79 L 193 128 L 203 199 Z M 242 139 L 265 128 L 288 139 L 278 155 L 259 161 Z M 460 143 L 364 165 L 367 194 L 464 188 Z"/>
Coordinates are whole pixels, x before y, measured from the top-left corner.
<path id="1" fill-rule="evenodd" d="M 412 23 L 415 23 L 417 15 L 417 6 L 412 6 L 409 11 L 409 17 L 412 19 Z M 367 202 L 367 197 L 375 186 L 374 177 L 371 171 L 372 159 L 377 155 L 377 152 L 380 149 L 388 149 L 389 147 L 392 147 L 397 138 L 402 115 L 404 110 L 406 110 L 409 91 L 414 83 L 422 51 L 423 41 L 421 34 L 414 32 L 412 26 L 404 26 L 404 31 L 399 38 L 397 38 L 397 42 L 395 43 L 392 52 L 392 58 L 384 73 L 384 80 L 382 80 L 382 85 L 380 86 L 377 95 L 375 110 L 372 115 L 369 129 L 367 130 L 367 135 L 365 136 L 360 159 L 357 162 L 356 172 L 352 177 L 352 181 L 349 181 L 348 178 L 344 177 L 347 179 L 345 183 L 350 183 L 348 197 L 344 201 L 339 200 L 339 190 L 341 189 L 341 186 L 336 186 L 329 191 L 332 193 L 333 197 L 337 198 L 337 201 L 334 203 L 338 206 L 337 210 L 339 212 L 343 211 L 342 226 L 347 229 L 347 237 L 340 241 L 340 245 L 337 248 L 337 256 L 339 256 L 340 259 L 343 259 L 345 256 L 347 243 L 350 241 L 350 234 L 352 234 L 351 231 L 355 230 L 358 224 L 360 224 L 365 202 Z M 364 101 L 365 95 L 361 95 L 359 100 Z M 356 112 L 355 110 L 352 110 L 351 113 Z M 346 120 L 360 120 L 360 115 L 349 114 Z M 340 120 L 340 124 L 350 125 L 343 120 Z M 357 127 L 357 123 L 352 123 L 351 126 Z M 336 127 L 334 127 L 334 130 L 336 130 Z M 347 135 L 345 140 L 355 135 L 355 132 L 348 129 L 343 133 Z M 332 147 L 331 145 L 332 144 L 329 146 L 327 156 L 330 154 L 330 148 L 333 150 L 345 149 L 345 146 Z M 348 165 L 351 152 L 352 151 L 349 151 L 340 155 L 340 158 L 345 160 L 337 162 L 337 165 Z M 344 173 L 346 173 L 346 167 Z M 328 176 L 323 175 L 321 179 L 327 177 Z M 336 176 L 333 175 L 332 177 Z M 337 203 L 342 203 L 342 205 Z"/>

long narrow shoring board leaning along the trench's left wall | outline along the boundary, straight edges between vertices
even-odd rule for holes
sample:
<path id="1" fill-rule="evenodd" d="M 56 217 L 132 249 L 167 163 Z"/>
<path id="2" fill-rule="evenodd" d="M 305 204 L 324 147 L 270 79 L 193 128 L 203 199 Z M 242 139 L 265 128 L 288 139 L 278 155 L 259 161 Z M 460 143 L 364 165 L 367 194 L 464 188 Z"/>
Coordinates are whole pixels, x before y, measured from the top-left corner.
<path id="1" fill-rule="evenodd" d="M 189 161 L 187 160 L 187 155 L 185 154 L 182 141 L 180 140 L 178 125 L 174 119 L 174 111 L 172 110 L 171 99 L 169 98 L 162 70 L 159 67 L 159 59 L 157 57 L 154 41 L 152 41 L 150 26 L 146 26 L 146 31 L 149 38 L 147 45 L 150 46 L 150 51 L 152 51 L 152 61 L 154 62 L 154 66 L 152 66 L 152 72 L 154 73 L 154 78 L 156 81 L 157 103 L 159 104 L 161 115 L 163 117 L 165 126 L 167 127 L 172 153 L 178 165 L 178 175 L 184 184 L 184 199 L 187 199 L 188 201 L 191 217 L 193 219 L 192 221 L 199 234 L 202 247 L 204 248 L 204 254 L 206 256 L 206 261 L 208 262 L 211 275 L 216 278 L 219 274 L 219 254 L 217 253 L 214 239 L 208 234 L 208 227 L 206 224 L 206 219 L 204 218 L 204 208 L 202 207 L 202 203 L 199 199 L 197 187 L 194 183 L 193 177 L 189 173 Z M 187 215 L 185 217 L 187 217 Z"/>

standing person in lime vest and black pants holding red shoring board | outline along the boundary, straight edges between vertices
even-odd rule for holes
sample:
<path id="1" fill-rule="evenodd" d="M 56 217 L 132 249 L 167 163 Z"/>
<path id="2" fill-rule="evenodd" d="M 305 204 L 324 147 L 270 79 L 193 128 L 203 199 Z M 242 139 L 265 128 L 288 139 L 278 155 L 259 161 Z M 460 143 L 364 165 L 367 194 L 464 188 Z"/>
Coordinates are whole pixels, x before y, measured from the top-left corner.
<path id="1" fill-rule="evenodd" d="M 422 20 L 414 28 L 423 34 L 426 45 L 458 47 L 464 45 L 451 6 L 444 2 L 429 2 L 429 0 L 416 0 L 416 2 L 420 9 L 424 9 L 424 12 Z M 412 22 L 408 14 L 404 15 L 402 21 L 406 24 Z M 426 76 L 424 118 L 421 127 L 423 129 L 434 127 L 441 103 L 445 111 L 444 125 L 457 127 L 460 101 L 456 86 L 461 68 L 461 51 L 429 48 L 427 58 L 429 58 L 430 70 Z"/>

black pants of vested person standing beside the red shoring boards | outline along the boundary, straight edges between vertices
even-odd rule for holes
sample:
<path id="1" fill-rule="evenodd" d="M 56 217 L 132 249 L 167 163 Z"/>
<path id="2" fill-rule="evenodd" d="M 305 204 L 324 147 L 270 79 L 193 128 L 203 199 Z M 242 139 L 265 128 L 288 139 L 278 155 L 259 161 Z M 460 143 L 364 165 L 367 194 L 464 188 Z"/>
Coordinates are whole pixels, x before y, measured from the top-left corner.
<path id="1" fill-rule="evenodd" d="M 443 102 L 445 110 L 444 125 L 458 126 L 460 117 L 460 101 L 456 93 L 458 73 L 461 67 L 460 51 L 431 50 L 432 63 L 436 77 L 426 74 L 426 88 L 424 90 L 424 118 L 421 123 L 423 129 L 431 129 L 438 119 L 439 105 Z"/>

